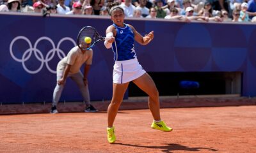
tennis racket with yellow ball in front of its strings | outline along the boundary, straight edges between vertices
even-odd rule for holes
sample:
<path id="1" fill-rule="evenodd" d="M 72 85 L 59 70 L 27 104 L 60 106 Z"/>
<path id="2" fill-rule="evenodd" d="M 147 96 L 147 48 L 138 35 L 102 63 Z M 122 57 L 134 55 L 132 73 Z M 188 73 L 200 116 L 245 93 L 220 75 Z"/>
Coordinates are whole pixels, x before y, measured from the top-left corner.
<path id="1" fill-rule="evenodd" d="M 81 50 L 89 50 L 102 40 L 108 40 L 108 38 L 100 36 L 94 27 L 86 26 L 78 33 L 77 46 Z"/>

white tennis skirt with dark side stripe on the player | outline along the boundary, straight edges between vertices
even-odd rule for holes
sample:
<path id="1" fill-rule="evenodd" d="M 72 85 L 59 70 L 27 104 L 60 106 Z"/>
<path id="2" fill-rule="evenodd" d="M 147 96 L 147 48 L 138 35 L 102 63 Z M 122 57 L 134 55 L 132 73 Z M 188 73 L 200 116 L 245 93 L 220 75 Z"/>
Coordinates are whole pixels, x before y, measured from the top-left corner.
<path id="1" fill-rule="evenodd" d="M 113 83 L 125 84 L 141 77 L 144 73 L 146 71 L 142 68 L 137 58 L 126 61 L 115 61 Z"/>

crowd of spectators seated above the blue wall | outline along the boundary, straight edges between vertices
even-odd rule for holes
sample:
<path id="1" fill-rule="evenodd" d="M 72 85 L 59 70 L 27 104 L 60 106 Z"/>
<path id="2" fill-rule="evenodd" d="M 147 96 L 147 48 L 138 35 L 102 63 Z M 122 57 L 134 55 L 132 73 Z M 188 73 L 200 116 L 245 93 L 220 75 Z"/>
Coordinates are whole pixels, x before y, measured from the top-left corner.
<path id="1" fill-rule="evenodd" d="M 0 0 L 0 11 L 65 15 L 108 15 L 113 0 Z M 114 0 L 125 17 L 256 22 L 256 0 Z"/>

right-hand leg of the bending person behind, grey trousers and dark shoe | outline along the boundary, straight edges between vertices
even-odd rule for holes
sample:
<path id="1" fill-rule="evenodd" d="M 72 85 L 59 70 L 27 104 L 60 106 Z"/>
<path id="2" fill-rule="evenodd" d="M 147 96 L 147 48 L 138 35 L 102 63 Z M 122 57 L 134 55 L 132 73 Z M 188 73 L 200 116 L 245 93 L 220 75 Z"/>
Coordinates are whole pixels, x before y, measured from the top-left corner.
<path id="1" fill-rule="evenodd" d="M 86 103 L 86 108 L 84 112 L 98 112 L 98 110 L 91 105 L 90 92 L 88 87 L 89 85 L 84 85 L 83 74 L 81 73 L 81 71 L 79 71 L 79 73 L 70 75 L 70 78 L 74 82 L 76 82 L 76 85 L 83 96 L 84 102 Z"/>

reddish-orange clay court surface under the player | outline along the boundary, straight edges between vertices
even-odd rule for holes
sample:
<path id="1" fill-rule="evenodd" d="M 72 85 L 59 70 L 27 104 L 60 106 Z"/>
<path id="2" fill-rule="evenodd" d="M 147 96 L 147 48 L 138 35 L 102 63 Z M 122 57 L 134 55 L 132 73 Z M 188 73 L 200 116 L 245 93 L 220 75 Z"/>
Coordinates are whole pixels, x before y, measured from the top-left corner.
<path id="1" fill-rule="evenodd" d="M 0 115 L 0 152 L 256 152 L 256 106 L 162 108 L 170 133 L 150 128 L 148 109 L 120 110 L 116 144 L 107 113 Z"/>

